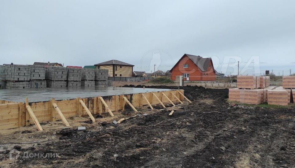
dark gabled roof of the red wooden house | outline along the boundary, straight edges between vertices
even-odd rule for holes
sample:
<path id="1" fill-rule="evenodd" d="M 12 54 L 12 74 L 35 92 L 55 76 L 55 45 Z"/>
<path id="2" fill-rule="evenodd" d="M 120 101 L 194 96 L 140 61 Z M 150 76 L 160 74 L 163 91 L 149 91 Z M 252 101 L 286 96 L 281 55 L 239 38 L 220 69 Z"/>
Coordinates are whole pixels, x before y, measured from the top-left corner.
<path id="1" fill-rule="evenodd" d="M 201 56 L 199 56 L 199 55 L 190 55 L 190 54 L 184 54 L 184 55 L 179 59 L 179 61 L 180 61 L 183 57 L 185 57 L 185 56 L 187 56 L 188 58 L 190 58 L 191 61 L 194 62 L 195 65 L 197 65 L 197 66 L 201 69 L 201 71 L 207 71 L 208 66 L 209 66 L 209 64 L 210 64 L 210 62 L 211 62 L 211 58 L 203 58 L 203 57 L 201 57 Z M 178 61 L 178 62 L 179 62 L 179 61 Z M 173 66 L 173 68 L 178 64 L 178 62 Z M 173 70 L 173 68 L 170 70 L 170 72 Z M 214 70 L 214 67 L 212 67 L 212 68 L 213 68 L 213 70 Z M 214 71 L 215 71 L 215 70 L 214 70 Z"/>

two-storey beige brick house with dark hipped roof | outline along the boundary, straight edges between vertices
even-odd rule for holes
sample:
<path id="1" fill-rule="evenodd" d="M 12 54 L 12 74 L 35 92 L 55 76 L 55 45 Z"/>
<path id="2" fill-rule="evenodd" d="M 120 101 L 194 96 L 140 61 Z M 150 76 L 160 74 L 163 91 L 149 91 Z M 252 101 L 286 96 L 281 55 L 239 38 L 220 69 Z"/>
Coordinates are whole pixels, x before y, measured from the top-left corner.
<path id="1" fill-rule="evenodd" d="M 94 66 L 96 69 L 108 69 L 109 77 L 132 77 L 134 65 L 118 60 L 110 60 Z"/>

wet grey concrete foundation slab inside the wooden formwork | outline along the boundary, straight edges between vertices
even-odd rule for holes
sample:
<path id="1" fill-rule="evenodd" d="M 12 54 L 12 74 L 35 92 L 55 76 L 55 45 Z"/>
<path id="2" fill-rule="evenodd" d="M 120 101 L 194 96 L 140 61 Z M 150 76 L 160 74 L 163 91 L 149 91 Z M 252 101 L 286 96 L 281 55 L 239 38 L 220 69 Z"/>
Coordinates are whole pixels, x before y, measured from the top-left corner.
<path id="1" fill-rule="evenodd" d="M 168 91 L 170 89 L 153 88 L 121 88 L 121 87 L 95 87 L 95 88 L 42 88 L 42 89 L 15 89 L 13 92 L 7 89 L 0 90 L 0 100 L 24 102 L 29 98 L 29 102 L 49 101 L 51 98 L 56 100 L 74 99 L 77 97 L 87 98 L 96 96 L 110 96 L 122 94 L 134 94 L 156 91 Z"/>

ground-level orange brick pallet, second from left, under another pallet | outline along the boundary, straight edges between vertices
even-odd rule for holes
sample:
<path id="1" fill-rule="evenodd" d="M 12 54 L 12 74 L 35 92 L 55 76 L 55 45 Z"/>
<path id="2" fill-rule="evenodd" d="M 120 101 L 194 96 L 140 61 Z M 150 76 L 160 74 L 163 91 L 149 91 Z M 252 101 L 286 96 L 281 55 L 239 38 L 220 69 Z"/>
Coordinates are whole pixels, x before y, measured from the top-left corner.
<path id="1" fill-rule="evenodd" d="M 261 104 L 263 99 L 263 90 L 246 90 L 240 89 L 240 103 Z"/>

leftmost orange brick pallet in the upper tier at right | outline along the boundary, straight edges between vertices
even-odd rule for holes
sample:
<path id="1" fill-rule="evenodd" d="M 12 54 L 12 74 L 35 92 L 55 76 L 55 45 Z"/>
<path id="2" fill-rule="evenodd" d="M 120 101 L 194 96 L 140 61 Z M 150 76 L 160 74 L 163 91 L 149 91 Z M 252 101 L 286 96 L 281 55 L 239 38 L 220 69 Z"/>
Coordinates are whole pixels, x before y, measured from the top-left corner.
<path id="1" fill-rule="evenodd" d="M 237 88 L 243 89 L 255 89 L 256 86 L 256 76 L 253 75 L 238 75 Z"/>

